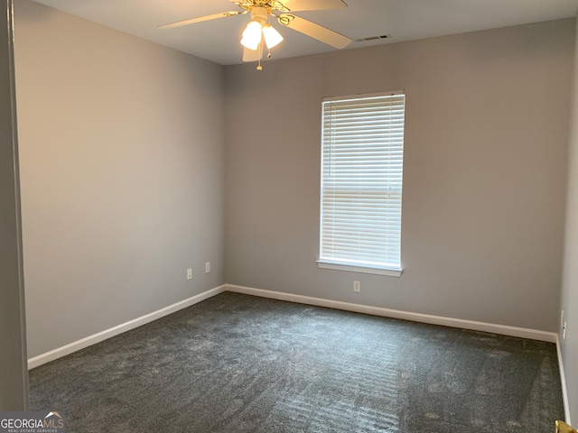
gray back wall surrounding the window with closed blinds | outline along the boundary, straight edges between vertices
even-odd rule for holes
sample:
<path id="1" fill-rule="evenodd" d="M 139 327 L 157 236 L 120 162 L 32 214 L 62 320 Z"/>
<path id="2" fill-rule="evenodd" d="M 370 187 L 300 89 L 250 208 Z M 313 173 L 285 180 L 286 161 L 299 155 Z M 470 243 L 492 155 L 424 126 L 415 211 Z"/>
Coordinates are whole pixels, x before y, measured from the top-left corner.
<path id="1" fill-rule="evenodd" d="M 573 29 L 569 19 L 229 67 L 228 283 L 555 332 Z M 397 89 L 405 272 L 320 270 L 322 97 Z"/>

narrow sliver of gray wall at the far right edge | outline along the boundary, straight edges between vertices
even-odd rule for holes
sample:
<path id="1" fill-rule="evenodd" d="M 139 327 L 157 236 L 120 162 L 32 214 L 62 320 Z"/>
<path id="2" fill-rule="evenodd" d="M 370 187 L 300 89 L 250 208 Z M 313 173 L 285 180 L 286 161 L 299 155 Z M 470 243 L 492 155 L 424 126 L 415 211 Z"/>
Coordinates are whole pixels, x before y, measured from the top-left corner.
<path id="1" fill-rule="evenodd" d="M 578 27 L 576 31 L 562 286 L 562 309 L 567 324 L 566 340 L 560 336 L 570 416 L 574 423 L 578 421 L 578 370 L 576 369 L 578 365 Z"/>

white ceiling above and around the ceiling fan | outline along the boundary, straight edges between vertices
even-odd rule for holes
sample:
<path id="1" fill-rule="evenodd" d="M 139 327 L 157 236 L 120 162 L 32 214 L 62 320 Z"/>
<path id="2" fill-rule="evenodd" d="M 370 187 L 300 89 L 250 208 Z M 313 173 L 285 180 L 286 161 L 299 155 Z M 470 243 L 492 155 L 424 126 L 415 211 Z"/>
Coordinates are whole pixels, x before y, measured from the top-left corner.
<path id="1" fill-rule="evenodd" d="M 240 34 L 247 15 L 194 23 L 170 30 L 165 23 L 240 10 L 229 0 L 35 0 L 148 41 L 158 42 L 223 65 L 241 63 Z M 574 17 L 578 0 L 345 0 L 349 7 L 295 13 L 351 39 L 383 34 L 391 40 L 353 41 L 347 49 Z M 292 29 L 273 23 L 285 40 L 272 59 L 334 51 Z"/>

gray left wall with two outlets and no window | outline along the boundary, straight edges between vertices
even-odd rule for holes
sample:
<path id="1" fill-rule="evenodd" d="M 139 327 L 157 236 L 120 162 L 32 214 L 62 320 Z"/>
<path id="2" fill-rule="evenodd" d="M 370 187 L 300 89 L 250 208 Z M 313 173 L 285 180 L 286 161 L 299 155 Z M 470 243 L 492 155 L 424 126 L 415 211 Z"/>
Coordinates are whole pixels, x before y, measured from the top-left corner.
<path id="1" fill-rule="evenodd" d="M 33 357 L 224 282 L 224 68 L 17 3 Z"/>

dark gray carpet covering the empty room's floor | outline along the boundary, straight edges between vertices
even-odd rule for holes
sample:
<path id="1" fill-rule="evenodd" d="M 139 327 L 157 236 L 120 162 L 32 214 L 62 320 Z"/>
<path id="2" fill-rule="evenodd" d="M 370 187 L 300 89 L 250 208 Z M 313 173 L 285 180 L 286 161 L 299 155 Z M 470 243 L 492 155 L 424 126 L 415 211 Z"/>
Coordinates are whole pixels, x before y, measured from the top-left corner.
<path id="1" fill-rule="evenodd" d="M 552 433 L 555 345 L 222 293 L 30 373 L 77 432 Z"/>

